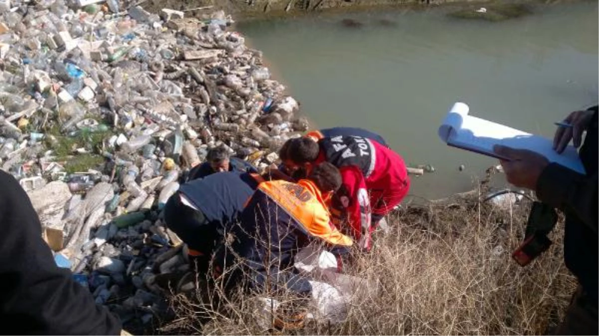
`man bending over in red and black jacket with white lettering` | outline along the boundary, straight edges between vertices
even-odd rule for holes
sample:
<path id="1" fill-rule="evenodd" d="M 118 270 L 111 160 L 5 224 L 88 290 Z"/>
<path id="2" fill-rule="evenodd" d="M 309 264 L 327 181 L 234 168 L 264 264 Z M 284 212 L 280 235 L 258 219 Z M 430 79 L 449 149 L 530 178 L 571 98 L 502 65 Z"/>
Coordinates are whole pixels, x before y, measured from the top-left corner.
<path id="1" fill-rule="evenodd" d="M 367 251 L 371 248 L 370 234 L 380 219 L 401 203 L 410 188 L 403 158 L 360 136 L 334 136 L 317 142 L 312 138 L 291 139 L 281 154 L 291 170 L 310 173 L 323 161 L 338 167 L 343 185 L 331 202 L 332 212 L 346 213 L 352 236 Z"/>

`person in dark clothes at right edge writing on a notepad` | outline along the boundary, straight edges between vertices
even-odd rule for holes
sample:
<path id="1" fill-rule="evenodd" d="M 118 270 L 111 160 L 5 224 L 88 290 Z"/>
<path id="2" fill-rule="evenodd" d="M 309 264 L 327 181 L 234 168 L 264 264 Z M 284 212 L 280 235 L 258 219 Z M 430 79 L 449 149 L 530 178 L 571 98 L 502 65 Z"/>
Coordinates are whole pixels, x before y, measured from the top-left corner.
<path id="1" fill-rule="evenodd" d="M 580 146 L 586 175 L 549 161 L 531 151 L 497 146 L 507 181 L 534 190 L 543 203 L 561 209 L 566 216 L 564 260 L 579 281 L 570 307 L 556 335 L 596 335 L 599 331 L 599 106 L 568 115 L 559 127 L 553 147 L 562 152 L 573 140 Z"/>

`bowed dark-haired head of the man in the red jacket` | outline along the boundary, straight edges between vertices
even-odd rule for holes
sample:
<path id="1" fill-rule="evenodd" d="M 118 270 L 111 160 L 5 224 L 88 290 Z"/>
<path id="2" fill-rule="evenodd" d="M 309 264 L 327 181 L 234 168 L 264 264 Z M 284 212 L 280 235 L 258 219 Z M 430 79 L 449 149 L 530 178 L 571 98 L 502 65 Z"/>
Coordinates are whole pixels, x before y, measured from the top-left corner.
<path id="1" fill-rule="evenodd" d="M 290 172 L 304 168 L 309 174 L 319 153 L 320 147 L 313 139 L 295 138 L 285 142 L 281 148 L 279 157 Z"/>

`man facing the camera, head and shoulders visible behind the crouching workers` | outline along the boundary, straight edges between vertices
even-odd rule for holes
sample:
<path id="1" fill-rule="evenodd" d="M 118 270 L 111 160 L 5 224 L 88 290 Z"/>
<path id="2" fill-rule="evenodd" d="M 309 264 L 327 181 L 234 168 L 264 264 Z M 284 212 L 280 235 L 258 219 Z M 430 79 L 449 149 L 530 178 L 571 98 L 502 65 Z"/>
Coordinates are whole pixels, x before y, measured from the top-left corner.
<path id="1" fill-rule="evenodd" d="M 190 170 L 187 181 L 205 178 L 220 172 L 258 173 L 258 169 L 247 161 L 230 157 L 226 148 L 220 146 L 210 149 L 206 155 L 206 161 Z"/>

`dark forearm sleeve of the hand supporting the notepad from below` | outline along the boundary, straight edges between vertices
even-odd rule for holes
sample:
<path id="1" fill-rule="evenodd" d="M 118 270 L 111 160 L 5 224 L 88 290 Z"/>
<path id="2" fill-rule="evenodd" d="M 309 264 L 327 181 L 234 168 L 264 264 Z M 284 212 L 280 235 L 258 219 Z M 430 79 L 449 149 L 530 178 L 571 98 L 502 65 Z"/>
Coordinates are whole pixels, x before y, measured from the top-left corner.
<path id="1" fill-rule="evenodd" d="M 544 203 L 576 215 L 599 234 L 599 174 L 585 176 L 550 163 L 537 182 L 537 197 Z"/>

